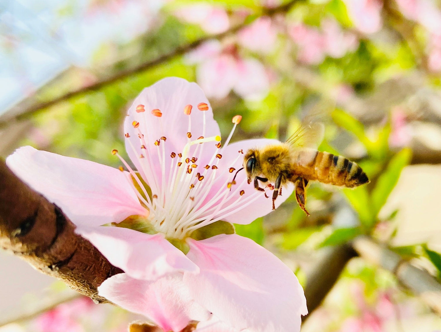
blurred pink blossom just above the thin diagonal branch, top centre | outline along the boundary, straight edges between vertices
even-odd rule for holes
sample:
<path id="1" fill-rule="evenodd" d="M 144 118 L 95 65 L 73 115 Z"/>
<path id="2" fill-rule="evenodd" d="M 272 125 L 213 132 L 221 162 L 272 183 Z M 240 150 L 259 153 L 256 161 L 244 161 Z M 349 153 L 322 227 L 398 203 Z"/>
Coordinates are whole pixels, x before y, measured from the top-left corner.
<path id="1" fill-rule="evenodd" d="M 220 34 L 230 27 L 228 14 L 222 7 L 198 3 L 180 7 L 176 17 L 188 23 L 199 24 L 209 34 Z"/>

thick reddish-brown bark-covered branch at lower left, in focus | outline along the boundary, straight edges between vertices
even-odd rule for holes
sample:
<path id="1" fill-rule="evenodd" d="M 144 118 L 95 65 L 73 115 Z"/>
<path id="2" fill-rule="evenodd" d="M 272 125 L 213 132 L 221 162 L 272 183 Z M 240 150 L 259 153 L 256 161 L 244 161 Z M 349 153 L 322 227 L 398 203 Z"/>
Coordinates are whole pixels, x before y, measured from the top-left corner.
<path id="1" fill-rule="evenodd" d="M 0 160 L 0 247 L 95 302 L 107 302 L 97 287 L 122 270 L 74 230 L 58 206 L 30 189 Z"/>

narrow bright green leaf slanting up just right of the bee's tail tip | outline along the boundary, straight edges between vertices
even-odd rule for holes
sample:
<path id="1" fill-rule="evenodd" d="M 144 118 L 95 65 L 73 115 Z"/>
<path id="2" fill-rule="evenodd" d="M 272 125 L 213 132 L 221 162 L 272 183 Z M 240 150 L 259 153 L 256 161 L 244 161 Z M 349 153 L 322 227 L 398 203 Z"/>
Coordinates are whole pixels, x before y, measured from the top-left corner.
<path id="1" fill-rule="evenodd" d="M 402 149 L 399 153 L 392 157 L 385 172 L 378 177 L 375 188 L 372 190 L 372 213 L 377 216 L 381 207 L 385 204 L 392 189 L 396 186 L 403 168 L 409 164 L 411 160 L 411 149 Z"/>

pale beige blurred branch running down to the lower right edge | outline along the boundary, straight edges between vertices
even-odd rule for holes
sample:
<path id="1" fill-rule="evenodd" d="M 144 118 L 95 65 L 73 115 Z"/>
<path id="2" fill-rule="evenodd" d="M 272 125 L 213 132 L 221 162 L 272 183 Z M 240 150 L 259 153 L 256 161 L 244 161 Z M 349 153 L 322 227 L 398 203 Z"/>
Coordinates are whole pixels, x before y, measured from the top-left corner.
<path id="1" fill-rule="evenodd" d="M 404 287 L 441 315 L 441 284 L 433 276 L 368 237 L 356 238 L 353 246 L 360 257 L 392 272 Z"/>

